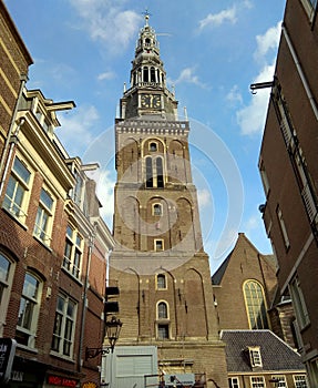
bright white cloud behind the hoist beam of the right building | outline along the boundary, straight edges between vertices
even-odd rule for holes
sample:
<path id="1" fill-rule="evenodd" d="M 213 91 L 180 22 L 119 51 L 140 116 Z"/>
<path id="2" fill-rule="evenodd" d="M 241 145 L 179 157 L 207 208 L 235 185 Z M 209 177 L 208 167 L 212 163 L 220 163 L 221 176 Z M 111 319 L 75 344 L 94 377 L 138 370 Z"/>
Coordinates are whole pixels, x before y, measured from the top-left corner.
<path id="1" fill-rule="evenodd" d="M 274 64 L 265 65 L 253 83 L 273 81 L 274 70 Z M 236 113 L 236 119 L 243 135 L 253 135 L 263 132 L 269 92 L 270 90 L 268 89 L 258 90 L 257 93 L 252 96 L 249 105 Z"/>

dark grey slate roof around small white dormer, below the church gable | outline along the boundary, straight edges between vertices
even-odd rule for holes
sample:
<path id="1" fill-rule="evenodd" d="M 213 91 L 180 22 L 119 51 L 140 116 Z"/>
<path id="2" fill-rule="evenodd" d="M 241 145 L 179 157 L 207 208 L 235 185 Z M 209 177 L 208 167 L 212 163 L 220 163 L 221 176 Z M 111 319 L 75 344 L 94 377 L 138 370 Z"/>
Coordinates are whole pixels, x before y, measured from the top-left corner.
<path id="1" fill-rule="evenodd" d="M 305 371 L 300 356 L 270 330 L 223 330 L 220 338 L 226 344 L 226 361 L 229 372 L 253 371 L 246 351 L 248 346 L 259 346 L 261 370 L 264 371 Z"/>

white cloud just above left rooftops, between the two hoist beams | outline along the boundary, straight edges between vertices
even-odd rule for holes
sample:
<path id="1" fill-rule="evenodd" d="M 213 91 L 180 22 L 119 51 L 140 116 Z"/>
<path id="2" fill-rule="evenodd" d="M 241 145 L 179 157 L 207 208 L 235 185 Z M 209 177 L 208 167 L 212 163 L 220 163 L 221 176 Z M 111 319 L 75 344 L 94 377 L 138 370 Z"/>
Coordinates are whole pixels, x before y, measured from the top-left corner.
<path id="1" fill-rule="evenodd" d="M 59 115 L 62 127 L 57 130 L 57 134 L 71 156 L 80 155 L 93 141 L 92 130 L 99 119 L 93 105 L 82 105 Z"/>

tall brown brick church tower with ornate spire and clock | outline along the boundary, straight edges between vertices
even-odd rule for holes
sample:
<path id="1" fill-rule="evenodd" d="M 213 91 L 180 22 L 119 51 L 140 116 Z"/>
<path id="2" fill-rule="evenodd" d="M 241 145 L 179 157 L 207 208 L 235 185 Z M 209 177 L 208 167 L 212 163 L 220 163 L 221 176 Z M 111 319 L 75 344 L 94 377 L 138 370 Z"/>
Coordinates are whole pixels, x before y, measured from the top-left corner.
<path id="1" fill-rule="evenodd" d="M 115 121 L 116 246 L 109 286 L 123 323 L 116 348 L 154 346 L 158 374 L 191 372 L 227 387 L 208 256 L 192 180 L 189 123 L 177 116 L 148 16 Z"/>

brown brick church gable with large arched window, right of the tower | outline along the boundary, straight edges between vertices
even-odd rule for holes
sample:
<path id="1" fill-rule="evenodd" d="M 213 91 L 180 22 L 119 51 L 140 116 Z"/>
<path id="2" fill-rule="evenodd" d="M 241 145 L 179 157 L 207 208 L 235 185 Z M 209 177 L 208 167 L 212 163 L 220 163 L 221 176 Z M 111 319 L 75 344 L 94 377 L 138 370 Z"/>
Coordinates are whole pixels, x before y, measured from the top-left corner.
<path id="1" fill-rule="evenodd" d="M 219 330 L 271 329 L 293 348 L 295 314 L 280 297 L 274 255 L 263 255 L 244 233 L 212 276 Z"/>

